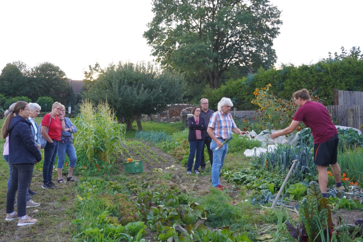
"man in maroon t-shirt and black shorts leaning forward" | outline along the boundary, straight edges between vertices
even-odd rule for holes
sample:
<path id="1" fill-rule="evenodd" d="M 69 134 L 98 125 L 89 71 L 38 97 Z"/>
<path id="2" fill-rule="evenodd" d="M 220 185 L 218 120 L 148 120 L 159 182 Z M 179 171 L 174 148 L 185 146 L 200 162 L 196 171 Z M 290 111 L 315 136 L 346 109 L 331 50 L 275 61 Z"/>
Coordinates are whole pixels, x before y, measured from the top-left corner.
<path id="1" fill-rule="evenodd" d="M 309 91 L 302 89 L 293 95 L 294 102 L 299 106 L 290 126 L 280 132 L 270 134 L 270 138 L 275 139 L 281 135 L 292 133 L 303 122 L 310 127 L 314 137 L 314 163 L 319 172 L 319 187 L 324 197 L 326 197 L 326 187 L 328 184 L 327 169 L 330 165 L 335 179 L 335 187 L 344 191 L 340 179 L 340 167 L 337 163 L 338 155 L 338 130 L 333 124 L 328 111 L 323 104 L 310 101 Z"/>

